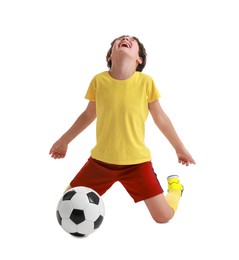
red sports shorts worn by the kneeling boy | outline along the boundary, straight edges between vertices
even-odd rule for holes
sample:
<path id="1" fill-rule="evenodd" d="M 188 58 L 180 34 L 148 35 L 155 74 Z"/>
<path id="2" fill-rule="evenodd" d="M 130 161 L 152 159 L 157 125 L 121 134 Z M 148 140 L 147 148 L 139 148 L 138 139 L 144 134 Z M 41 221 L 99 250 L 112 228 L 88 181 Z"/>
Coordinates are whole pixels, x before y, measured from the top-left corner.
<path id="1" fill-rule="evenodd" d="M 135 202 L 163 193 L 152 163 L 114 165 L 89 158 L 71 181 L 71 187 L 86 186 L 103 195 L 119 181 Z"/>

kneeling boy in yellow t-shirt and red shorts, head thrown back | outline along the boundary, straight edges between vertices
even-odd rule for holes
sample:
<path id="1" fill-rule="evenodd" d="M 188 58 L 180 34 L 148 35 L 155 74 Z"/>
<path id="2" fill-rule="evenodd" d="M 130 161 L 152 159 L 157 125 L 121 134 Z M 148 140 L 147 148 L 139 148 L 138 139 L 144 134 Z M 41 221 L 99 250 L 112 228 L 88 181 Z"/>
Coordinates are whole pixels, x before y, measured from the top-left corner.
<path id="1" fill-rule="evenodd" d="M 146 50 L 139 39 L 116 38 L 106 59 L 109 71 L 92 79 L 85 96 L 89 100 L 85 111 L 53 144 L 50 154 L 54 159 L 64 158 L 68 144 L 97 118 L 96 145 L 67 189 L 87 186 L 103 195 L 119 181 L 135 202 L 145 202 L 156 222 L 168 222 L 176 212 L 183 186 L 178 176 L 169 176 L 168 193 L 163 194 L 144 143 L 148 112 L 174 147 L 179 163 L 188 166 L 195 161 L 161 108 L 153 79 L 141 73 L 146 65 Z"/>

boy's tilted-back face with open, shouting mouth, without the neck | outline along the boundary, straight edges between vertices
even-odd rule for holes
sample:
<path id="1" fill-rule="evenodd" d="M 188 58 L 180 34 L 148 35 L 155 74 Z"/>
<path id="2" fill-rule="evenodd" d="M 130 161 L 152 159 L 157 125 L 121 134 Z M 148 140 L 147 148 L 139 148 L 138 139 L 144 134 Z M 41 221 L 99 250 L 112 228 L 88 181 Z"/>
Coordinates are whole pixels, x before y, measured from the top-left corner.
<path id="1" fill-rule="evenodd" d="M 122 54 L 127 54 L 138 64 L 142 63 L 142 59 L 139 57 L 139 45 L 134 37 L 122 36 L 117 38 L 112 46 L 112 52 L 109 59 L 112 59 L 114 55 Z"/>

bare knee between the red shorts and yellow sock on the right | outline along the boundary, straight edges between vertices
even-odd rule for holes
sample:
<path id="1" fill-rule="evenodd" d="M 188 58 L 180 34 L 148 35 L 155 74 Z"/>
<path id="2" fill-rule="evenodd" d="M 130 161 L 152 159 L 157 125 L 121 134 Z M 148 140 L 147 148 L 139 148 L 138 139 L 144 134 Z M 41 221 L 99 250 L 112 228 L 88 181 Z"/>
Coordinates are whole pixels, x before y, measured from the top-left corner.
<path id="1" fill-rule="evenodd" d="M 152 218 L 159 223 L 168 222 L 174 216 L 173 208 L 168 204 L 164 194 L 159 194 L 144 201 Z"/>

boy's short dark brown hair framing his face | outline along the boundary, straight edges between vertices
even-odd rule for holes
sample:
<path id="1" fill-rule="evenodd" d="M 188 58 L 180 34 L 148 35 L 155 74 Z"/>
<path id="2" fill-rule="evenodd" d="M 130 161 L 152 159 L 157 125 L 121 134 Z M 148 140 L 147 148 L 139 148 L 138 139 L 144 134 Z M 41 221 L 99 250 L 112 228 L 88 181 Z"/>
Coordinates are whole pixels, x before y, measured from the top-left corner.
<path id="1" fill-rule="evenodd" d="M 135 40 L 138 43 L 138 47 L 139 47 L 138 55 L 141 58 L 141 62 L 138 64 L 138 66 L 136 68 L 136 71 L 143 71 L 143 69 L 144 69 L 144 67 L 146 65 L 146 56 L 147 56 L 146 50 L 144 48 L 144 45 L 139 41 L 138 38 L 136 38 L 135 36 L 129 36 L 129 35 L 123 35 L 123 36 L 117 37 L 116 39 L 114 39 L 111 42 L 111 47 L 108 50 L 107 55 L 106 55 L 107 66 L 109 68 L 111 68 L 111 66 L 112 66 L 112 61 L 110 59 L 110 56 L 111 56 L 111 53 L 112 53 L 112 49 L 113 49 L 114 43 L 116 42 L 116 40 L 119 40 L 119 39 L 122 39 L 122 38 L 133 39 L 133 40 Z"/>

